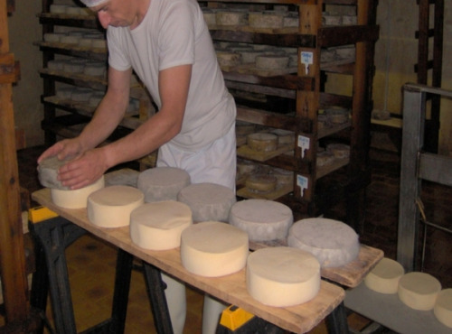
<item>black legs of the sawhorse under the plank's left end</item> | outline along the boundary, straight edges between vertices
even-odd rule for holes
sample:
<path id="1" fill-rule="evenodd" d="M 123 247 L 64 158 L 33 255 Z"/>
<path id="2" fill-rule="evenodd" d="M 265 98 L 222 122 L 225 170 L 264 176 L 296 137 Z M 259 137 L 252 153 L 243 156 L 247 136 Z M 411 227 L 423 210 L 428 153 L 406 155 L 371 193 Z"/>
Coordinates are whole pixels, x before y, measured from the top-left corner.
<path id="1" fill-rule="evenodd" d="M 31 224 L 30 230 L 36 237 L 38 244 L 38 263 L 36 273 L 33 275 L 31 303 L 34 307 L 45 311 L 47 293 L 50 292 L 56 332 L 65 334 L 77 333 L 65 249 L 83 236 L 86 231 L 61 217 Z M 124 332 L 132 265 L 133 255 L 118 249 L 111 318 L 86 332 Z"/>

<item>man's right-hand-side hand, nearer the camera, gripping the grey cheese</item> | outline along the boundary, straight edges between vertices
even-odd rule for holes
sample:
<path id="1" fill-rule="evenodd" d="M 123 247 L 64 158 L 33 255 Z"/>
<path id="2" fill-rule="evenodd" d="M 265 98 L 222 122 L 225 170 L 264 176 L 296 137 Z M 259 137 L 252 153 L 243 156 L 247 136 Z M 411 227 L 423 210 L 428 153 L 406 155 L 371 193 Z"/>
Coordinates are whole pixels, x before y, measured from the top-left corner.
<path id="1" fill-rule="evenodd" d="M 89 150 L 60 168 L 58 180 L 72 190 L 86 187 L 108 170 L 107 158 L 102 148 Z"/>

